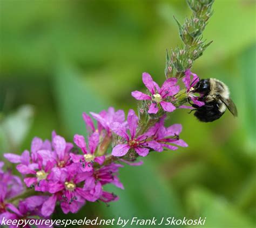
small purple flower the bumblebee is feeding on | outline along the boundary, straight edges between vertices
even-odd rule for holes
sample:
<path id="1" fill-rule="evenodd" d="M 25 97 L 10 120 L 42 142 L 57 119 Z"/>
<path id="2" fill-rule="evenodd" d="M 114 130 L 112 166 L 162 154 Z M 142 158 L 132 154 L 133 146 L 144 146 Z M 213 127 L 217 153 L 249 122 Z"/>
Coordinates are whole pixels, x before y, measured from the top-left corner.
<path id="1" fill-rule="evenodd" d="M 191 99 L 191 101 L 199 107 L 203 106 L 205 103 L 198 101 L 199 97 L 191 93 L 191 91 L 194 89 L 193 86 L 195 86 L 199 82 L 199 77 L 196 74 L 192 73 L 190 69 L 186 69 L 185 77 L 182 79 L 182 81 L 185 84 L 187 95 Z M 179 108 L 193 109 L 191 106 L 186 105 L 181 105 Z"/>

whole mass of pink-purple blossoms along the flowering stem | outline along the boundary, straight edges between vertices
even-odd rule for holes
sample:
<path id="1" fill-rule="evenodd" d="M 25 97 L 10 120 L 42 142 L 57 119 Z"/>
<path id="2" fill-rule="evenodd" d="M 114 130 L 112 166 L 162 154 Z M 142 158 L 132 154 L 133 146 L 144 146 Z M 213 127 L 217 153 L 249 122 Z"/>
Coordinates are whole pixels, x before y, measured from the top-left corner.
<path id="1" fill-rule="evenodd" d="M 191 87 L 190 76 L 191 73 L 186 72 L 184 83 L 188 93 Z M 133 91 L 132 96 L 151 102 L 146 110 L 150 115 L 156 115 L 160 109 L 164 113 L 176 109 L 172 101 L 179 92 L 177 79 L 166 80 L 160 88 L 149 74 L 143 73 L 143 82 L 150 95 Z M 197 102 L 196 98 L 192 101 Z M 33 138 L 30 151 L 25 150 L 21 155 L 4 154 L 5 159 L 17 164 L 16 168 L 23 177 L 26 190 L 31 188 L 32 195 L 16 205 L 9 203 L 25 191 L 25 186 L 19 177 L 9 171 L 3 172 L 3 162 L 0 162 L 0 219 L 24 219 L 28 216 L 49 218 L 57 204 L 64 213 L 76 213 L 87 201 L 116 201 L 118 197 L 105 191 L 104 186 L 113 184 L 124 188 L 118 179 L 118 170 L 123 167 L 120 162 L 142 164 L 133 163 L 134 158 L 129 159 L 127 153 L 132 152 L 136 158 L 152 151 L 162 152 L 164 149 L 176 150 L 177 146 L 187 146 L 179 138 L 182 130 L 180 124 L 164 126 L 166 114 L 159 116 L 158 122 L 142 133 L 138 127 L 139 118 L 132 109 L 127 119 L 123 110 L 115 111 L 112 107 L 107 111 L 90 114 L 93 118 L 83 113 L 87 140 L 75 134 L 75 146 L 53 131 L 51 141 Z M 111 146 L 112 153 L 107 154 Z"/>

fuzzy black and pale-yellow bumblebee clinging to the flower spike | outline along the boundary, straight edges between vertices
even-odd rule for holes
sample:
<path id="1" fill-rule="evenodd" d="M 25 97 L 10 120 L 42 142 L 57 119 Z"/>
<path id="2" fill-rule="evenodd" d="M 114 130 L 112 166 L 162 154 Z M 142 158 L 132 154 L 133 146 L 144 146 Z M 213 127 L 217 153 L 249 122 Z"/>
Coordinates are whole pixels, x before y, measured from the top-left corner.
<path id="1" fill-rule="evenodd" d="M 230 90 L 218 79 L 201 79 L 190 92 L 198 92 L 201 95 L 198 101 L 205 103 L 203 106 L 192 104 L 195 108 L 194 116 L 201 122 L 213 122 L 219 119 L 226 108 L 237 117 L 237 107 L 230 98 Z"/>

